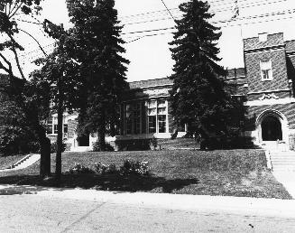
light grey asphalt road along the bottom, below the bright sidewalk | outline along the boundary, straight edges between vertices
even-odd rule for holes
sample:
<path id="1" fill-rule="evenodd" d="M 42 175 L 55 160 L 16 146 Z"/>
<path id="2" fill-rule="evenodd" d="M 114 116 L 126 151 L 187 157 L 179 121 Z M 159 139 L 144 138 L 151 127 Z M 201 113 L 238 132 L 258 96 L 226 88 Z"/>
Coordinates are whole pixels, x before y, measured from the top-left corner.
<path id="1" fill-rule="evenodd" d="M 294 210 L 295 211 L 295 210 Z M 0 196 L 0 232 L 295 232 L 295 218 L 34 194 Z"/>

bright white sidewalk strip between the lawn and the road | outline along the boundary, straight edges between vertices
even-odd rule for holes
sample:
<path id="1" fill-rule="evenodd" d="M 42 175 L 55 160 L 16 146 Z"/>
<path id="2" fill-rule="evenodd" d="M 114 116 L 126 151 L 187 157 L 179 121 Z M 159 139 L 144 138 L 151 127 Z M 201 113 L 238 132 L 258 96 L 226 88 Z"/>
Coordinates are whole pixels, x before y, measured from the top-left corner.
<path id="1" fill-rule="evenodd" d="M 167 193 L 96 191 L 81 189 L 54 189 L 32 186 L 0 186 L 3 189 L 23 188 L 36 196 L 50 199 L 86 200 L 161 208 L 170 210 L 221 210 L 253 216 L 287 217 L 295 219 L 295 200 L 257 199 L 246 197 L 197 196 Z M 34 191 L 35 190 L 35 191 Z M 0 196 L 1 197 L 1 196 Z"/>

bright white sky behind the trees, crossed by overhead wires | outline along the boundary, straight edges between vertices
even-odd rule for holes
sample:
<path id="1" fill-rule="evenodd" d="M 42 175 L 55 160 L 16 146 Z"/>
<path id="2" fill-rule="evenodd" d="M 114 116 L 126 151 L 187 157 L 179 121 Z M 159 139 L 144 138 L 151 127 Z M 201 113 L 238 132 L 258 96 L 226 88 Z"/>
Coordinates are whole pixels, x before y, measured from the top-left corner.
<path id="1" fill-rule="evenodd" d="M 179 18 L 181 14 L 178 5 L 185 0 L 163 1 L 171 9 L 172 16 Z M 230 21 L 234 2 L 234 0 L 208 0 L 211 5 L 210 11 L 216 14 L 212 23 L 221 28 L 222 36 L 218 47 L 219 57 L 222 59 L 220 64 L 225 68 L 244 67 L 244 38 L 257 36 L 258 33 L 284 33 L 285 40 L 295 39 L 294 0 L 238 0 L 239 15 Z M 69 27 L 65 0 L 47 0 L 42 6 L 41 16 L 37 17 L 39 20 L 48 18 L 53 23 L 64 23 L 65 27 Z M 171 59 L 169 42 L 172 41 L 172 32 L 175 30 L 134 33 L 175 26 L 161 0 L 116 0 L 115 8 L 119 20 L 124 25 L 122 32 L 122 38 L 126 42 L 124 57 L 130 61 L 126 73 L 127 80 L 159 79 L 170 76 L 174 61 Z M 41 32 L 40 25 L 23 23 L 22 27 L 32 33 L 46 51 L 52 50 L 54 41 Z M 157 35 L 144 36 L 151 34 Z M 32 61 L 42 56 L 42 53 L 30 36 L 23 34 L 18 39 L 25 44 L 25 51 L 20 55 L 24 73 L 27 75 L 35 69 Z"/>

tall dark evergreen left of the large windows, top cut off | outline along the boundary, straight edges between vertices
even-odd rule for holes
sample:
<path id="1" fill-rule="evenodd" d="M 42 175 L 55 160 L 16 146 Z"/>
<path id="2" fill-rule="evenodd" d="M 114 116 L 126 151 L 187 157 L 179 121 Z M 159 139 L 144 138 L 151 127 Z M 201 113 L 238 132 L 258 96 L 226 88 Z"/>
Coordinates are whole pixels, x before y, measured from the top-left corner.
<path id="1" fill-rule="evenodd" d="M 115 134 L 119 102 L 124 89 L 126 64 L 122 57 L 114 0 L 67 0 L 72 29 L 72 57 L 80 63 L 81 89 L 79 134 L 97 133 L 105 150 L 107 130 Z"/>

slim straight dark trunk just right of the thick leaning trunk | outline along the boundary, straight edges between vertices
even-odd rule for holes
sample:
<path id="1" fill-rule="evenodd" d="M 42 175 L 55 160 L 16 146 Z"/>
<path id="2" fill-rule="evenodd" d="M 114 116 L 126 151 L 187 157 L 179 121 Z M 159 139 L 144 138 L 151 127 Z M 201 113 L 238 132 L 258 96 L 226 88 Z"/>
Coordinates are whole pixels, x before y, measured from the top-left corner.
<path id="1" fill-rule="evenodd" d="M 60 95 L 59 95 L 60 96 Z M 60 97 L 58 103 L 58 138 L 57 138 L 57 152 L 56 152 L 56 167 L 55 167 L 55 175 L 56 182 L 60 185 L 61 178 L 61 153 L 62 153 L 62 122 L 63 121 L 63 100 Z"/>

